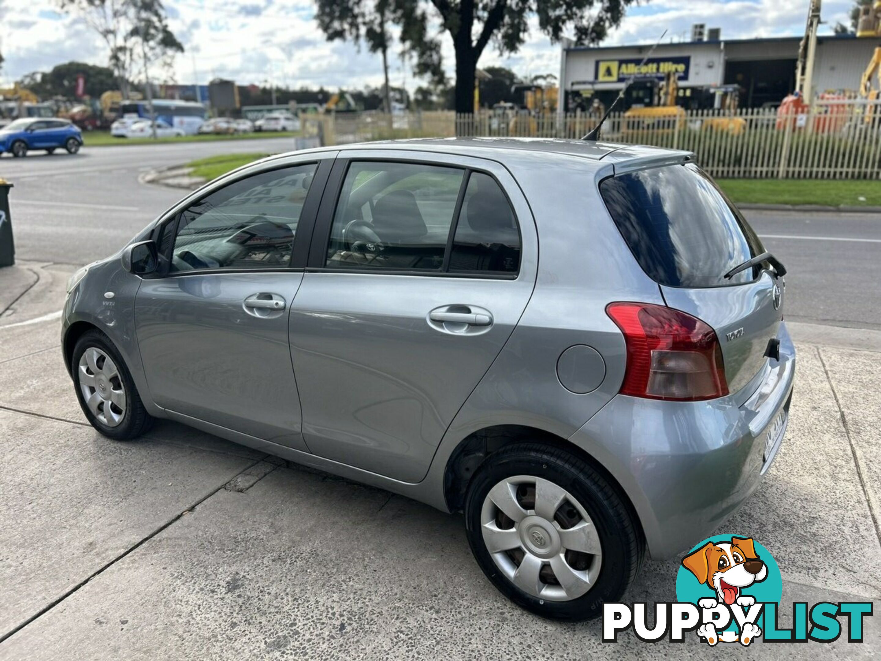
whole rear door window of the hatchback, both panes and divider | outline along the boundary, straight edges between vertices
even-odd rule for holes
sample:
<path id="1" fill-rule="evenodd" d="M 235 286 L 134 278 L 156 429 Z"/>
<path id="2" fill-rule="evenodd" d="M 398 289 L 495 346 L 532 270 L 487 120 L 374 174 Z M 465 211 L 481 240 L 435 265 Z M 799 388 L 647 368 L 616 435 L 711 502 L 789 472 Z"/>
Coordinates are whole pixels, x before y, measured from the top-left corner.
<path id="1" fill-rule="evenodd" d="M 356 161 L 337 202 L 325 267 L 512 275 L 520 252 L 514 210 L 491 175 Z"/>

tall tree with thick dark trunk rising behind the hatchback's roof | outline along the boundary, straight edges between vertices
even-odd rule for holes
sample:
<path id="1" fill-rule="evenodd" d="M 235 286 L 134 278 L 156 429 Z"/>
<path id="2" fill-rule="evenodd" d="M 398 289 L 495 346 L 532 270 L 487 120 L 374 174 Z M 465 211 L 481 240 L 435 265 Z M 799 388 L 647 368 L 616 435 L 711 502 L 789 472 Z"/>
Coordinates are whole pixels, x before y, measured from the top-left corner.
<path id="1" fill-rule="evenodd" d="M 322 0 L 327 2 L 328 0 Z M 353 4 L 357 0 L 343 0 Z M 576 41 L 602 41 L 609 28 L 618 26 L 626 7 L 637 0 L 393 0 L 401 26 L 400 40 L 416 56 L 416 73 L 443 78 L 441 47 L 428 30 L 425 7 L 440 15 L 442 29 L 453 40 L 455 50 L 455 111 L 474 109 L 474 80 L 480 56 L 492 41 L 502 55 L 515 53 L 526 41 L 529 22 L 537 19 L 539 29 L 559 41 L 572 31 Z"/>

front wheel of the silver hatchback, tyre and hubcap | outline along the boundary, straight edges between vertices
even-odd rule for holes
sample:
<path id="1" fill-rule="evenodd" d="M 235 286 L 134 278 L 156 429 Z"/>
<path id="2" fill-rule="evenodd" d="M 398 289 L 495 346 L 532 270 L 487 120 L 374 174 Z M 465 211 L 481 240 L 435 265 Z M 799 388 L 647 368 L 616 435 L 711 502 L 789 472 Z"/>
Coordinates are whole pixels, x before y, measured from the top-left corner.
<path id="1" fill-rule="evenodd" d="M 101 434 L 116 441 L 137 438 L 152 427 L 129 368 L 110 338 L 86 331 L 71 360 L 74 388 L 85 417 Z"/>

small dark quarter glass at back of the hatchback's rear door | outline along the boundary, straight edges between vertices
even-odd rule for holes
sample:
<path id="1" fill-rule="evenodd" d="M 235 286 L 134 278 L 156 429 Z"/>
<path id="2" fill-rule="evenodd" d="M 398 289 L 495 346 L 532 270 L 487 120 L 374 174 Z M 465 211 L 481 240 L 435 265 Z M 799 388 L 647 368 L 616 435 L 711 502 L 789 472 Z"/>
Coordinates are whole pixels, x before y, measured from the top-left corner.
<path id="1" fill-rule="evenodd" d="M 490 175 L 472 172 L 455 227 L 450 271 L 512 273 L 520 266 L 520 232 L 511 204 Z"/>

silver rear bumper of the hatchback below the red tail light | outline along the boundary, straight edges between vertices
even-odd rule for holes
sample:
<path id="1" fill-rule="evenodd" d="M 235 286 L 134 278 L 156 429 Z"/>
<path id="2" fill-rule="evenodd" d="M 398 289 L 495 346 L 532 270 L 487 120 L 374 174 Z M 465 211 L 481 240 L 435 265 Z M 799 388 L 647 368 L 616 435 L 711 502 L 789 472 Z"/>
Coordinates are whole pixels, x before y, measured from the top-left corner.
<path id="1" fill-rule="evenodd" d="M 788 412 L 796 370 L 785 323 L 778 338 L 781 360 L 743 405 L 732 396 L 661 402 L 618 395 L 569 439 L 624 488 L 652 557 L 670 557 L 706 538 L 774 461 L 786 431 L 777 419 Z M 769 430 L 776 434 L 767 448 Z"/>

